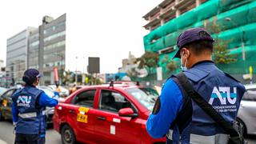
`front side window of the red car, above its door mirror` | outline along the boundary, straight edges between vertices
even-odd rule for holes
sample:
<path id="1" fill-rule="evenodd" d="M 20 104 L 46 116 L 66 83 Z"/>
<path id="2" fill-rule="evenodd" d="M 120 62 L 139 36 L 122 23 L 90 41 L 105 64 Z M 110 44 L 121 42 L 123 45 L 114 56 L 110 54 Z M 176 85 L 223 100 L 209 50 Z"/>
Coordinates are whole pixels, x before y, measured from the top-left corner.
<path id="1" fill-rule="evenodd" d="M 134 111 L 137 111 L 122 94 L 111 90 L 102 90 L 99 101 L 99 108 L 102 110 L 118 112 L 122 108 L 130 107 Z"/>

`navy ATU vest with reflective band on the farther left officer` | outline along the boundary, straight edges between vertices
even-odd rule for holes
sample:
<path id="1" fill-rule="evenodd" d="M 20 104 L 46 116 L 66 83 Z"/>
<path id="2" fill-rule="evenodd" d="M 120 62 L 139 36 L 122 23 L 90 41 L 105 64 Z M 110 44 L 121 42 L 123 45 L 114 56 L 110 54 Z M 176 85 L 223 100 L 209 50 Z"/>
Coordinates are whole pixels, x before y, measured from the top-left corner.
<path id="1" fill-rule="evenodd" d="M 42 90 L 33 86 L 25 86 L 17 90 L 13 96 L 13 102 L 18 109 L 18 122 L 16 133 L 18 134 L 45 134 L 46 133 L 46 107 L 38 105 Z"/>

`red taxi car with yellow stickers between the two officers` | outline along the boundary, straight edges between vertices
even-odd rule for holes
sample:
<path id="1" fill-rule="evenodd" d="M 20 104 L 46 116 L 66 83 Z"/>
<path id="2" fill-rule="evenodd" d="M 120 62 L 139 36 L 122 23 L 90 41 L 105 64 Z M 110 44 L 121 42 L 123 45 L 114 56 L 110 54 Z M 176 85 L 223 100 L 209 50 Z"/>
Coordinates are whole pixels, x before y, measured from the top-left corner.
<path id="1" fill-rule="evenodd" d="M 130 85 L 88 86 L 55 107 L 62 143 L 165 143 L 146 132 L 157 93 Z"/>

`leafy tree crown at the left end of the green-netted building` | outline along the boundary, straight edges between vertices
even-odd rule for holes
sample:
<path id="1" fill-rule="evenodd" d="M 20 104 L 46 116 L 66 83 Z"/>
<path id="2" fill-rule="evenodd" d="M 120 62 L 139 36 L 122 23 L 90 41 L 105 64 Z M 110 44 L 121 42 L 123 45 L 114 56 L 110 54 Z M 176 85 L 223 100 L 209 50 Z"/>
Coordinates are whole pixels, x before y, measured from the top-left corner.
<path id="1" fill-rule="evenodd" d="M 156 68 L 158 66 L 159 56 L 154 52 L 146 51 L 142 57 L 137 58 L 138 68 L 147 68 L 149 70 L 149 74 L 151 73 L 152 68 Z"/>

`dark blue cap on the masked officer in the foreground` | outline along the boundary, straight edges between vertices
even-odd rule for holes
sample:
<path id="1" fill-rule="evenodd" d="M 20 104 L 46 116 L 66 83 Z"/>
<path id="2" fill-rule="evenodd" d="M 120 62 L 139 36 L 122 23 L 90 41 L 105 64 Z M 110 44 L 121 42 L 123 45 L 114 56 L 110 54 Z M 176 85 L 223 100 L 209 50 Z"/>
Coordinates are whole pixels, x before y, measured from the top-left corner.
<path id="1" fill-rule="evenodd" d="M 178 40 L 177 40 L 178 51 L 174 55 L 174 58 L 181 58 L 180 50 L 182 50 L 183 46 L 185 46 L 186 44 L 189 44 L 190 42 L 195 42 L 195 41 L 214 42 L 214 38 L 212 38 L 210 34 L 201 27 L 186 30 L 178 36 Z"/>

